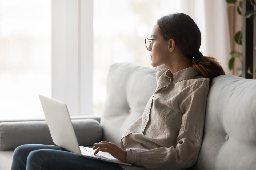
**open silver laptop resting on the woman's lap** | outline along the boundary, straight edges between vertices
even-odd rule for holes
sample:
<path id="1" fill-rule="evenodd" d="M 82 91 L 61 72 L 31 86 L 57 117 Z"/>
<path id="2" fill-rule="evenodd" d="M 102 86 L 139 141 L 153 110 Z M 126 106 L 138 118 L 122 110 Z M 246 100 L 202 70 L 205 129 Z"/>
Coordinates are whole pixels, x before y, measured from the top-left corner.
<path id="1" fill-rule="evenodd" d="M 71 122 L 67 105 L 61 101 L 39 95 L 43 112 L 51 133 L 53 142 L 73 153 L 91 159 L 132 166 L 130 163 L 121 162 L 107 152 L 99 151 L 94 155 L 95 150 L 89 147 L 79 146 L 73 124 Z"/>

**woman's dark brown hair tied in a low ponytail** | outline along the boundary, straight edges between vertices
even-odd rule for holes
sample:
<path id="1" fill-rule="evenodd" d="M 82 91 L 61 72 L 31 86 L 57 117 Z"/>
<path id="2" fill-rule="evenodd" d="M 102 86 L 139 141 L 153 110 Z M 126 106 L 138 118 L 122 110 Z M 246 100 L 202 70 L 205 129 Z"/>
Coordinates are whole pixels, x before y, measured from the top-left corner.
<path id="1" fill-rule="evenodd" d="M 194 20 L 183 13 L 173 13 L 157 20 L 159 33 L 165 40 L 173 39 L 176 46 L 192 62 L 203 76 L 213 79 L 225 75 L 221 64 L 211 56 L 203 56 L 199 51 L 201 32 Z M 194 60 L 193 60 L 194 58 Z"/>

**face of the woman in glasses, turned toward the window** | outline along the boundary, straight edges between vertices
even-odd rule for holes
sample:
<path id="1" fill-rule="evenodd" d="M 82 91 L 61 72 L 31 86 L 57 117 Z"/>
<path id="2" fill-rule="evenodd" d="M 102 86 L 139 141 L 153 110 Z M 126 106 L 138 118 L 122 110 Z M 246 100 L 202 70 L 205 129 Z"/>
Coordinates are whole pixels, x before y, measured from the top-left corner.
<path id="1" fill-rule="evenodd" d="M 153 27 L 151 38 L 150 39 L 158 39 L 158 40 L 151 40 L 151 46 L 149 50 L 151 56 L 151 65 L 153 67 L 160 66 L 161 64 L 165 64 L 167 62 L 167 58 L 170 55 L 168 50 L 168 41 L 162 39 L 162 35 L 158 31 L 159 25 L 155 24 Z"/>

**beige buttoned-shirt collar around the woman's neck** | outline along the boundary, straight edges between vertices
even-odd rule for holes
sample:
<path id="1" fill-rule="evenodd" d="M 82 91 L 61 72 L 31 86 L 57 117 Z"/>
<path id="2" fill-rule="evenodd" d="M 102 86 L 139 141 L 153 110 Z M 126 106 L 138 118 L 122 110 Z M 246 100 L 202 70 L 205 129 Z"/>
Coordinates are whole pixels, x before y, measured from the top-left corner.
<path id="1" fill-rule="evenodd" d="M 177 71 L 176 73 L 172 74 L 170 69 L 165 71 L 165 75 L 169 78 L 173 77 L 174 83 L 179 82 L 181 80 L 189 79 L 196 75 L 201 74 L 194 66 L 188 67 L 186 69 Z"/>

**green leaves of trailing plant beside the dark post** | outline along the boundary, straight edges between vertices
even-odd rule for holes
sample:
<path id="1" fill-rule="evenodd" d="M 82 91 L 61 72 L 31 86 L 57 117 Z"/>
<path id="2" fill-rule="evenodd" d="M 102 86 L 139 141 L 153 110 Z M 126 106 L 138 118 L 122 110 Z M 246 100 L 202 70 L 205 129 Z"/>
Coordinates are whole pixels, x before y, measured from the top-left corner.
<path id="1" fill-rule="evenodd" d="M 255 2 L 254 1 L 252 1 L 252 0 L 246 0 L 246 1 L 250 1 L 251 5 L 255 7 Z M 230 6 L 235 6 L 235 4 L 238 3 L 237 12 L 238 12 L 239 15 L 242 15 L 242 12 L 241 12 L 242 11 L 242 0 L 241 1 L 226 0 L 226 2 L 229 3 Z M 256 11 L 255 10 L 247 10 L 247 11 L 245 11 L 244 15 L 245 15 L 245 18 L 252 17 L 252 20 L 254 22 Z M 241 27 L 241 31 L 238 31 L 238 32 L 235 33 L 234 40 L 235 40 L 235 43 L 237 43 L 238 45 L 242 45 L 242 27 Z M 239 58 L 240 62 L 242 63 L 242 59 L 241 59 L 242 53 L 239 52 L 239 46 L 237 48 L 237 51 L 235 51 L 235 50 L 231 51 L 230 55 L 231 55 L 231 58 L 229 60 L 229 70 L 233 69 L 235 58 Z M 237 67 L 236 73 L 239 74 L 240 77 L 242 77 L 242 68 Z M 248 67 L 247 73 L 252 75 L 251 67 Z"/>

